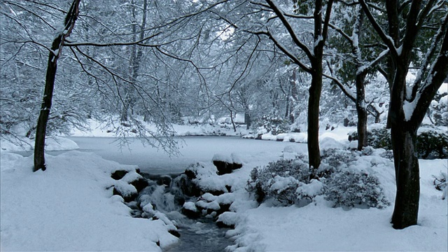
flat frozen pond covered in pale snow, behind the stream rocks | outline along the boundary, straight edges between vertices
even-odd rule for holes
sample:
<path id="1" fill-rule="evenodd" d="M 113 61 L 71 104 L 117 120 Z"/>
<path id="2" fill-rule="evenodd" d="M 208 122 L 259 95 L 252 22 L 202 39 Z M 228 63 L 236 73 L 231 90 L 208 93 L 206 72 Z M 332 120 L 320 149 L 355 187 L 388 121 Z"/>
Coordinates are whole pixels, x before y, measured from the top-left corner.
<path id="1" fill-rule="evenodd" d="M 142 172 L 151 174 L 176 174 L 194 162 L 211 162 L 217 153 L 237 153 L 243 160 L 272 157 L 277 160 L 286 146 L 306 150 L 306 144 L 278 141 L 242 139 L 240 137 L 183 137 L 179 138 L 178 156 L 169 156 L 151 146 L 144 146 L 139 139 L 129 139 L 126 146 L 112 137 L 69 137 L 78 144 L 78 151 L 88 151 L 123 165 L 138 165 Z M 51 152 L 49 152 L 52 154 Z M 55 153 L 56 154 L 56 153 Z M 52 154 L 52 155 L 55 155 Z"/>

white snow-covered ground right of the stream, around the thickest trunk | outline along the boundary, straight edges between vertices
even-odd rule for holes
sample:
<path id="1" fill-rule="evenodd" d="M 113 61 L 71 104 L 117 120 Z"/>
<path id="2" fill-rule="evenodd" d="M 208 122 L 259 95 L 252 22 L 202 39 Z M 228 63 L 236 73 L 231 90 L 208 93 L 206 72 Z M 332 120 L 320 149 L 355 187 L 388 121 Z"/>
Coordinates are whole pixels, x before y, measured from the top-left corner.
<path id="1" fill-rule="evenodd" d="M 237 211 L 233 217 L 239 220 L 236 228 L 227 232 L 236 243 L 230 251 L 447 251 L 447 201 L 433 185 L 433 175 L 447 172 L 447 160 L 420 160 L 419 225 L 394 230 L 390 223 L 395 197 L 393 167 L 387 169 L 375 155 L 370 159 L 358 162 L 356 169 L 379 176 L 392 202 L 390 207 L 346 211 L 331 208 L 322 196 L 301 208 L 247 207 Z M 315 186 L 309 193 L 319 189 Z"/>

